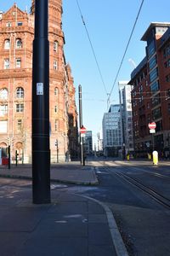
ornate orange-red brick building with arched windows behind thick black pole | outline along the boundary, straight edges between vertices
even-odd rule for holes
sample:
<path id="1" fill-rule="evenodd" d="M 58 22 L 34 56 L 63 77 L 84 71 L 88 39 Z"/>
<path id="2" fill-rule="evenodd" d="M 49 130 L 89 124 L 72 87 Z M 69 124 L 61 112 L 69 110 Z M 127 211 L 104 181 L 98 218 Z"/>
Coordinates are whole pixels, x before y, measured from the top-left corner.
<path id="1" fill-rule="evenodd" d="M 31 162 L 31 75 L 34 1 L 31 14 L 17 5 L 0 13 L 0 148 L 11 146 L 14 158 Z M 65 62 L 62 1 L 49 0 L 50 149 L 51 160 L 77 155 L 77 108 L 71 67 Z M 57 143 L 56 143 L 57 142 Z"/>

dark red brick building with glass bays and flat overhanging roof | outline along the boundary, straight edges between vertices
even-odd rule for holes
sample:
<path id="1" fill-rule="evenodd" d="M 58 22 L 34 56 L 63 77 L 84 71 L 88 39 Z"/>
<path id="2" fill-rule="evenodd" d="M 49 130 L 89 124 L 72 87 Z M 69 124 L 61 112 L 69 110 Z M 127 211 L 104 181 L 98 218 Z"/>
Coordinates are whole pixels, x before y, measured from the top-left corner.
<path id="1" fill-rule="evenodd" d="M 142 37 L 146 56 L 133 70 L 134 148 L 139 155 L 153 148 L 170 152 L 170 23 L 153 22 Z M 156 133 L 148 124 L 156 122 Z"/>

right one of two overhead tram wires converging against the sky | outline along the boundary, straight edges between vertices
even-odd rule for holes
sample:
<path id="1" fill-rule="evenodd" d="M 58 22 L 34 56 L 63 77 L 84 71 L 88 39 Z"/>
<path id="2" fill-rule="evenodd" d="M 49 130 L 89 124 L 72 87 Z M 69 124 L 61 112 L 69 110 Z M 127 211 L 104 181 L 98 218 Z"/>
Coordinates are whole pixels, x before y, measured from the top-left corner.
<path id="1" fill-rule="evenodd" d="M 111 94 L 112 94 L 112 91 L 113 91 L 113 89 L 114 89 L 114 87 L 115 87 L 115 84 L 116 84 L 116 79 L 118 78 L 118 75 L 119 75 L 119 73 L 120 73 L 120 71 L 121 71 L 122 62 L 124 61 L 125 55 L 126 55 L 126 53 L 127 53 L 127 49 L 128 49 L 129 44 L 130 44 L 131 38 L 132 38 L 132 36 L 133 36 L 134 28 L 135 28 L 135 26 L 136 26 L 136 24 L 137 24 L 137 21 L 138 21 L 138 19 L 139 19 L 139 14 L 140 14 L 140 11 L 141 11 L 141 9 L 142 9 L 143 3 L 144 3 L 144 0 L 142 0 L 142 2 L 141 2 L 141 4 L 140 4 L 139 11 L 138 11 L 138 14 L 137 14 L 137 16 L 136 16 L 136 20 L 134 21 L 134 24 L 133 24 L 132 32 L 130 33 L 130 37 L 128 38 L 128 42 L 127 42 L 126 49 L 125 49 L 125 51 L 124 51 L 124 54 L 122 55 L 121 64 L 120 64 L 120 66 L 119 66 L 119 68 L 118 68 L 118 71 L 117 71 L 117 73 L 116 73 L 116 78 L 115 78 L 114 83 L 113 83 L 113 85 L 112 85 L 112 87 L 111 87 L 111 93 L 109 94 L 109 97 L 108 97 L 108 100 L 107 100 L 108 102 L 110 102 Z"/>

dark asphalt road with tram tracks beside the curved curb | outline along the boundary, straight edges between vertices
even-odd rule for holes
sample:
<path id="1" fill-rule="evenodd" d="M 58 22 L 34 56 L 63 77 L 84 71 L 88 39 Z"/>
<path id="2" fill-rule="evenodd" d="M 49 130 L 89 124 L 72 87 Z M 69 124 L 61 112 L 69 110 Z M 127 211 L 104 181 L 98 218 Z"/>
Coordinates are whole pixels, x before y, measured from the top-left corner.
<path id="1" fill-rule="evenodd" d="M 149 163 L 122 161 L 91 162 L 96 166 L 98 186 L 71 186 L 66 190 L 88 195 L 109 206 L 116 218 L 129 255 L 170 255 L 170 207 L 156 200 L 162 195 L 170 206 L 170 168 Z M 117 174 L 118 173 L 118 174 Z M 143 190 L 129 183 L 127 175 L 142 183 Z"/>

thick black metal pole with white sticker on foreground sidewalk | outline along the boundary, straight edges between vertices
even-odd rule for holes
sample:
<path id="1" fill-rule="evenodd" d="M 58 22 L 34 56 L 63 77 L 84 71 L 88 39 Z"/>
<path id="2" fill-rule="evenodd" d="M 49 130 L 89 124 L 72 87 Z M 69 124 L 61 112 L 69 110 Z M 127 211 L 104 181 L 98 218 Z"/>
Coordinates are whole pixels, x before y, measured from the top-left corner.
<path id="1" fill-rule="evenodd" d="M 50 203 L 48 0 L 35 1 L 32 67 L 32 197 Z"/>

